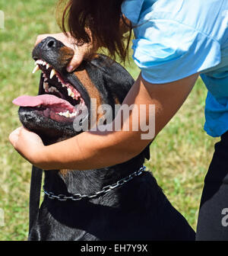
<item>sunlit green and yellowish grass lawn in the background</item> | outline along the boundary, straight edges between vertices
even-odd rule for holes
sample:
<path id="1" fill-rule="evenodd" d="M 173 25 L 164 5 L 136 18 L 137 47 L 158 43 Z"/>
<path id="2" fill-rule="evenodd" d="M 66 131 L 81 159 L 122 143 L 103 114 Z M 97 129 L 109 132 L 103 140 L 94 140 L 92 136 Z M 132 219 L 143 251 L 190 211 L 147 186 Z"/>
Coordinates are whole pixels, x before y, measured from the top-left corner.
<path id="1" fill-rule="evenodd" d="M 17 107 L 11 101 L 21 94 L 36 94 L 39 75 L 32 75 L 31 50 L 38 34 L 59 32 L 55 24 L 55 0 L 0 0 L 5 30 L 0 30 L 0 208 L 5 226 L 0 240 L 26 240 L 31 166 L 8 142 L 8 134 L 20 126 Z M 135 64 L 127 69 L 136 78 Z M 150 148 L 147 168 L 174 206 L 196 227 L 204 175 L 214 142 L 204 133 L 206 89 L 201 80 L 179 113 L 157 136 Z"/>

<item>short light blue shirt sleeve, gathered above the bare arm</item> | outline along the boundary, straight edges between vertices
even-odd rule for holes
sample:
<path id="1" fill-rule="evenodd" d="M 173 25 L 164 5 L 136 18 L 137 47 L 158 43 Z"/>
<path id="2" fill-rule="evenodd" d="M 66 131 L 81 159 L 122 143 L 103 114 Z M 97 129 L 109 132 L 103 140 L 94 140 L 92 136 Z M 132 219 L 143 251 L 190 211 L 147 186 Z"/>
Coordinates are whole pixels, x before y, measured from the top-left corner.
<path id="1" fill-rule="evenodd" d="M 133 59 L 150 83 L 174 82 L 220 63 L 220 43 L 185 24 L 166 19 L 135 28 Z"/>

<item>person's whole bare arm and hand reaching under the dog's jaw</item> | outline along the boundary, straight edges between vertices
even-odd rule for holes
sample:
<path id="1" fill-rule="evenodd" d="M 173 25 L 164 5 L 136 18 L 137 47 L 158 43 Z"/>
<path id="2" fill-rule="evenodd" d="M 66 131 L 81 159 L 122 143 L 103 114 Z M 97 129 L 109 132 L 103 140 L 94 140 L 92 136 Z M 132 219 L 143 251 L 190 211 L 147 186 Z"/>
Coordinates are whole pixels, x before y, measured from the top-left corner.
<path id="1" fill-rule="evenodd" d="M 154 85 L 144 81 L 140 75 L 123 104 L 136 104 L 138 109 L 141 104 L 154 104 L 157 136 L 182 106 L 197 78 L 198 74 L 195 74 L 176 82 Z M 130 123 L 135 110 L 129 117 Z M 149 114 L 144 118 L 148 121 Z M 141 139 L 142 133 L 141 130 L 84 132 L 63 142 L 43 146 L 39 136 L 21 128 L 11 133 L 9 139 L 14 148 L 37 167 L 45 170 L 87 170 L 116 165 L 138 155 L 153 139 Z"/>

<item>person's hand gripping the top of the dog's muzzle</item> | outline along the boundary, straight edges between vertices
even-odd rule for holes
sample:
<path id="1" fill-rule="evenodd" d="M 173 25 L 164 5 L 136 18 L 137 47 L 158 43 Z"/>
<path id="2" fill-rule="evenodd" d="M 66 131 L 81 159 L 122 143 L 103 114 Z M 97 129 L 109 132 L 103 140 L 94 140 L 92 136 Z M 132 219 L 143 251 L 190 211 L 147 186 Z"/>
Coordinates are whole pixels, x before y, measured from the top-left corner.
<path id="1" fill-rule="evenodd" d="M 71 37 L 71 34 L 69 33 L 41 34 L 37 37 L 35 45 L 40 43 L 46 37 L 54 37 L 56 40 L 64 43 L 65 46 L 68 46 L 72 50 L 74 50 L 74 57 L 71 59 L 71 62 L 68 64 L 67 67 L 68 72 L 73 72 L 74 69 L 77 69 L 84 59 L 87 59 L 97 50 L 97 48 L 92 43 L 84 43 L 83 45 L 78 46 L 77 40 L 74 37 Z"/>

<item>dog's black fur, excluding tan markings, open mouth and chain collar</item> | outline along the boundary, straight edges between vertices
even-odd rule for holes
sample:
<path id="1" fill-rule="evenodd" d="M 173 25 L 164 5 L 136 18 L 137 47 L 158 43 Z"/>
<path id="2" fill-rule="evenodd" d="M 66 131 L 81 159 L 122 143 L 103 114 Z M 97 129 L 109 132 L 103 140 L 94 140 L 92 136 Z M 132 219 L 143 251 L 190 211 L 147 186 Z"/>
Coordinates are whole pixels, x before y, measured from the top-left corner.
<path id="1" fill-rule="evenodd" d="M 36 46 L 33 58 L 49 62 L 81 92 L 90 107 L 84 86 L 74 74 L 65 72 L 67 63 L 59 59 L 62 46 L 49 37 Z M 81 69 L 87 69 L 103 103 L 112 107 L 114 97 L 122 102 L 134 83 L 122 66 L 116 62 L 110 65 L 106 56 L 84 62 Z M 40 94 L 43 94 L 43 81 L 40 83 Z M 40 134 L 46 144 L 77 135 L 71 123 L 46 120 L 35 108 L 21 107 L 19 116 L 24 126 Z M 148 147 L 130 161 L 109 168 L 78 171 L 75 166 L 67 174 L 59 170 L 45 171 L 44 187 L 54 194 L 93 194 L 137 171 L 145 158 L 149 158 Z M 122 187 L 90 200 L 59 201 L 45 196 L 29 240 L 195 240 L 195 232 L 147 171 Z"/>

